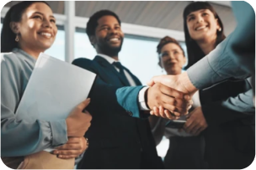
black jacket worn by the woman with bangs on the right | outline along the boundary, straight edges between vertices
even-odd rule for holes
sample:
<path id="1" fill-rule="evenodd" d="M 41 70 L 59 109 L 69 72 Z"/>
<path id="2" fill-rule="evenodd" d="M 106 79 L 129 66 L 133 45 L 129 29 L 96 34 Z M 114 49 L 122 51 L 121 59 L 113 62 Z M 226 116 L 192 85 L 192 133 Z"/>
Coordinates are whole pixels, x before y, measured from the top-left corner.
<path id="1" fill-rule="evenodd" d="M 205 156 L 213 169 L 242 169 L 256 160 L 256 116 L 233 111 L 223 100 L 246 92 L 247 80 L 226 81 L 211 89 L 200 90 L 200 101 L 208 128 Z"/>

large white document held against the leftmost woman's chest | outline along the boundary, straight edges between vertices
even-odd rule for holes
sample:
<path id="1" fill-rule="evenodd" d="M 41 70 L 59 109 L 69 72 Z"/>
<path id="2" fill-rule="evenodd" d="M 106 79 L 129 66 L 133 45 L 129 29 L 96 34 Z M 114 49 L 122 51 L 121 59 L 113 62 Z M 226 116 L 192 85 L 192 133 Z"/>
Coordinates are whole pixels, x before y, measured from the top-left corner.
<path id="1" fill-rule="evenodd" d="M 66 119 L 88 98 L 95 77 L 88 70 L 40 53 L 16 111 L 17 120 Z"/>

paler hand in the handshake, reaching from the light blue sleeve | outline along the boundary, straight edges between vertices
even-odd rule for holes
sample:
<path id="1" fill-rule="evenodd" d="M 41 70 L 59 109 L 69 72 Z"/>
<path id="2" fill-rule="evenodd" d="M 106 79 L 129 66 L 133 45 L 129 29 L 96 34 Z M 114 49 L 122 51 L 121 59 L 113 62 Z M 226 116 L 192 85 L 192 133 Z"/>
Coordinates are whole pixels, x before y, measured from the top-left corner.
<path id="1" fill-rule="evenodd" d="M 147 85 L 152 86 L 155 83 L 161 83 L 175 90 L 184 92 L 184 94 L 193 95 L 197 89 L 189 80 L 186 72 L 181 75 L 159 75 L 154 76 Z"/>

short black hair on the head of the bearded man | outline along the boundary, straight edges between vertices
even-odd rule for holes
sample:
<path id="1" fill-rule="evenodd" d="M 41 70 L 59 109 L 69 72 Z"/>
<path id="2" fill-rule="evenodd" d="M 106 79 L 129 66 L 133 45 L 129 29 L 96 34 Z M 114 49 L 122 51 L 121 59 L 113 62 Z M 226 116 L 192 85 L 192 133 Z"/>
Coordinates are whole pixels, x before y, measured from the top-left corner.
<path id="1" fill-rule="evenodd" d="M 90 38 L 92 35 L 95 34 L 95 29 L 98 26 L 99 18 L 102 18 L 102 17 L 107 16 L 107 15 L 115 17 L 117 19 L 118 23 L 121 25 L 120 18 L 114 12 L 109 11 L 107 9 L 100 10 L 100 11 L 94 13 L 89 18 L 89 21 L 88 21 L 87 27 L 86 27 L 86 33 L 88 35 L 88 38 Z"/>

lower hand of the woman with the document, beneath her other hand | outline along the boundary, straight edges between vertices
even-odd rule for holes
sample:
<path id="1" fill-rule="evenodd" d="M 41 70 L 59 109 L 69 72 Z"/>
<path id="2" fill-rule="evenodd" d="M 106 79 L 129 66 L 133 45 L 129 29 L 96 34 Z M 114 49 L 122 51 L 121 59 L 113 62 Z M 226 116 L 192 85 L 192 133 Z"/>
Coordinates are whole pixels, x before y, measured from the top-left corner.
<path id="1" fill-rule="evenodd" d="M 84 137 L 68 137 L 66 144 L 56 147 L 53 154 L 61 159 L 79 157 L 88 148 L 88 139 Z"/>

